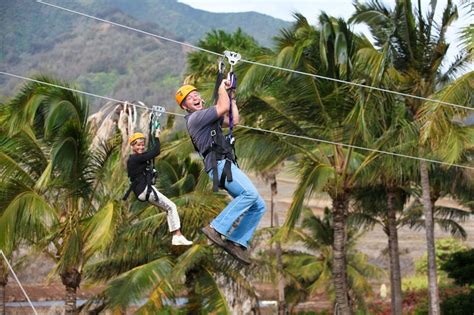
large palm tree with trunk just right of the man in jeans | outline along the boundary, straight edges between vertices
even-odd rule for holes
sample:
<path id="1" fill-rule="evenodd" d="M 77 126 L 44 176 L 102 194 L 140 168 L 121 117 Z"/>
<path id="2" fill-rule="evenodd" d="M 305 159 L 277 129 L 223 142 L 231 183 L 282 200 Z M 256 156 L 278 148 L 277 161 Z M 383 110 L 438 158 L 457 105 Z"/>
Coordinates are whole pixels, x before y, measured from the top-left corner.
<path id="1" fill-rule="evenodd" d="M 352 80 L 356 69 L 355 52 L 368 43 L 354 36 L 344 21 L 325 14 L 320 17 L 321 32 L 310 26 L 303 16 L 297 15 L 296 18 L 294 27 L 282 31 L 277 39 L 276 56 L 262 59 L 276 60 L 278 66 L 299 71 Z M 308 76 L 276 71 L 260 71 L 258 74 L 255 67 L 246 69 L 243 85 L 253 88 L 247 91 L 253 95 L 245 101 L 241 111 L 252 126 L 311 138 L 324 137 L 352 145 L 381 145 L 376 142 L 376 135 L 381 134 L 382 121 L 375 115 L 375 109 L 383 111 L 385 105 L 370 94 L 340 83 L 316 81 Z M 247 150 L 256 150 L 263 165 L 291 156 L 296 159 L 299 183 L 285 223 L 287 228 L 295 225 L 307 196 L 323 190 L 332 198 L 335 227 L 332 271 L 336 303 L 339 311 L 349 314 L 345 220 L 351 190 L 375 155 L 364 155 L 363 151 L 342 145 L 320 144 L 314 147 L 307 141 L 274 135 L 263 139 L 258 131 L 244 134 L 245 146 L 248 147 L 244 154 Z M 264 146 L 264 142 L 269 145 Z"/>

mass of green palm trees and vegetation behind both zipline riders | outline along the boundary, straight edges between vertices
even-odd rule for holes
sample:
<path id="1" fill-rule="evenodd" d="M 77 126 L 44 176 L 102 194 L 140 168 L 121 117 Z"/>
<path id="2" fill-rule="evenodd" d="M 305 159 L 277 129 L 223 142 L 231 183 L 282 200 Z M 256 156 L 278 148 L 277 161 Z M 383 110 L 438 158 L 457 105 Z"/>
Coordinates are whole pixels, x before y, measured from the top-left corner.
<path id="1" fill-rule="evenodd" d="M 423 311 L 449 309 L 459 297 L 440 295 L 439 265 L 455 279 L 449 285 L 472 284 L 456 272 L 472 253 L 451 254 L 464 250 L 455 242 L 437 248 L 435 225 L 467 237 L 462 223 L 474 209 L 474 126 L 467 123 L 474 72 L 463 72 L 472 62 L 468 30 L 459 56 L 447 61 L 446 32 L 458 8 L 448 1 L 438 19 L 436 4 L 423 12 L 411 1 L 393 7 L 355 2 L 349 21 L 323 12 L 318 25 L 295 14 L 272 48 L 240 29 L 214 30 L 198 42 L 272 66 L 236 67 L 246 127 L 236 128 L 239 164 L 271 190 L 272 223 L 258 231 L 250 267 L 210 246 L 200 233 L 228 197 L 211 192 L 182 125 L 169 119 L 155 161 L 156 186 L 177 204 L 183 232 L 194 240 L 176 249 L 165 213 L 135 198 L 121 200 L 128 179 L 120 123 L 114 125 L 110 113 L 93 123 L 90 100 L 37 82 L 23 85 L 0 107 L 0 249 L 14 262 L 25 249 L 27 256 L 49 257 L 50 277 L 65 288 L 67 314 L 130 308 L 138 314 L 258 313 L 256 283 L 277 288 L 279 314 L 321 295 L 329 301 L 327 311 L 370 313 L 380 302 L 374 288 L 381 277 L 390 281 L 387 312 L 406 314 L 416 310 L 407 306 L 412 293 L 402 287 L 399 233 L 422 229 L 426 257 L 418 271 L 426 275 L 428 297 Z M 352 23 L 365 23 L 374 40 L 355 33 Z M 215 56 L 199 51 L 187 60 L 185 81 L 211 100 Z M 51 77 L 37 80 L 68 87 Z M 130 112 L 119 115 L 124 121 Z M 97 124 L 111 131 L 100 141 Z M 283 170 L 295 189 L 279 224 L 274 198 Z M 320 216 L 307 205 L 314 196 L 330 200 Z M 446 199 L 452 202 L 440 202 Z M 386 236 L 386 275 L 358 247 L 361 235 L 376 226 Z M 0 314 L 7 282 L 2 262 Z M 78 306 L 77 289 L 84 283 L 100 290 Z"/>

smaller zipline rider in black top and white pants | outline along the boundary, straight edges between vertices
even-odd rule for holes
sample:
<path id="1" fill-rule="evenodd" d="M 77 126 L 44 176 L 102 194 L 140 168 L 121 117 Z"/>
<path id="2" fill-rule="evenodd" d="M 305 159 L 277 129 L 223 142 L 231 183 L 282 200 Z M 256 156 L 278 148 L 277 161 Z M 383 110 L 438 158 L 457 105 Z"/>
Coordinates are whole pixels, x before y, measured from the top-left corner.
<path id="1" fill-rule="evenodd" d="M 147 152 L 145 152 L 145 135 L 143 133 L 136 132 L 128 139 L 132 149 L 132 154 L 127 161 L 127 172 L 131 185 L 123 199 L 127 199 L 130 192 L 133 191 L 138 200 L 148 201 L 157 207 L 165 209 L 168 213 L 168 227 L 170 232 L 173 233 L 171 244 L 191 245 L 193 242 L 188 241 L 181 234 L 181 223 L 175 203 L 160 193 L 153 185 L 155 170 L 152 167 L 151 160 L 160 154 L 160 129 L 156 129 L 154 136 L 155 146 Z"/>

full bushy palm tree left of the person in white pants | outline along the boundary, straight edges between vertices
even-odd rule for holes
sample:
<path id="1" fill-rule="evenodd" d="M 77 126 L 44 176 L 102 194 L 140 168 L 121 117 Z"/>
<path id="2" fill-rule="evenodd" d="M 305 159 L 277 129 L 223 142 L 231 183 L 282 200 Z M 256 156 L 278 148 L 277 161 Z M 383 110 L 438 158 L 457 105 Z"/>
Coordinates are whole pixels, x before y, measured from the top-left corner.
<path id="1" fill-rule="evenodd" d="M 39 80 L 67 86 L 47 77 Z M 2 200 L 9 202 L 2 221 L 10 224 L 10 229 L 18 228 L 11 222 L 22 221 L 13 218 L 27 215 L 23 220 L 37 225 L 27 230 L 25 239 L 42 246 L 57 261 L 56 272 L 66 288 L 66 313 L 75 314 L 82 268 L 95 248 L 90 241 L 104 240 L 99 235 L 109 233 L 98 230 L 103 226 L 97 221 L 107 210 L 113 211 L 113 203 L 96 208 L 94 192 L 113 146 L 89 150 L 89 105 L 74 92 L 30 83 L 7 106 L 11 110 L 4 128 L 15 137 L 7 139 L 3 147 L 9 150 L 7 158 L 22 163 L 18 163 L 19 169 L 7 159 L 2 163 L 7 171 L 19 174 L 12 177 L 13 185 L 6 187 L 11 197 Z M 27 141 L 32 148 L 28 155 L 21 147 Z M 31 220 L 30 213 L 39 213 L 41 219 Z M 44 231 L 43 226 L 53 228 Z"/>

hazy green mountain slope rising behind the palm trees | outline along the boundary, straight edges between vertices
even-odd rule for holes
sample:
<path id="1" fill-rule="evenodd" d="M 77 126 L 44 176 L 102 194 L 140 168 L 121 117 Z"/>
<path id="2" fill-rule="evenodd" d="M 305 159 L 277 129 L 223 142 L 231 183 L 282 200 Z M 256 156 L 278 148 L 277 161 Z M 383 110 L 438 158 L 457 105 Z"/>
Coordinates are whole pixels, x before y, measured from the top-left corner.
<path id="1" fill-rule="evenodd" d="M 191 43 L 212 29 L 233 32 L 241 27 L 270 45 L 271 37 L 288 24 L 258 13 L 209 13 L 175 0 L 52 3 Z M 2 70 L 24 76 L 49 74 L 87 92 L 175 106 L 173 95 L 189 48 L 30 0 L 0 2 L 0 25 Z M 0 101 L 13 95 L 20 83 L 0 76 Z M 97 99 L 93 102 L 104 104 Z"/>

